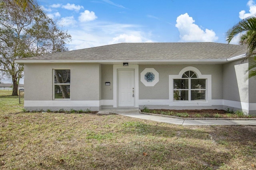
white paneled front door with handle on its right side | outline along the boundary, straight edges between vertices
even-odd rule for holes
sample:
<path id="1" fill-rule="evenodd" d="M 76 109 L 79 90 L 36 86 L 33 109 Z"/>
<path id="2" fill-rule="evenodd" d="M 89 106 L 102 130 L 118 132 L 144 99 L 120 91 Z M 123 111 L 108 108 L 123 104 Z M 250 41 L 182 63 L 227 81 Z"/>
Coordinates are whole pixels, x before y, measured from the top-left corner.
<path id="1" fill-rule="evenodd" d="M 134 107 L 134 70 L 118 70 L 118 106 Z"/>

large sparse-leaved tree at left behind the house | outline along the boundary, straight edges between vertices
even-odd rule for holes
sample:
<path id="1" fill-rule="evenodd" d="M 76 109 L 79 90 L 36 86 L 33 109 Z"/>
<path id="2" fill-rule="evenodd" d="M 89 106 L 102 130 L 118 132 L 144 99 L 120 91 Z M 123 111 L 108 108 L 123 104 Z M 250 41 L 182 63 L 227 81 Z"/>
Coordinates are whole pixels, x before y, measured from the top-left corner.
<path id="1" fill-rule="evenodd" d="M 70 40 L 36 4 L 21 8 L 16 0 L 0 3 L 0 71 L 12 78 L 12 95 L 18 95 L 23 74 L 23 66 L 14 63 L 15 59 L 67 51 Z"/>

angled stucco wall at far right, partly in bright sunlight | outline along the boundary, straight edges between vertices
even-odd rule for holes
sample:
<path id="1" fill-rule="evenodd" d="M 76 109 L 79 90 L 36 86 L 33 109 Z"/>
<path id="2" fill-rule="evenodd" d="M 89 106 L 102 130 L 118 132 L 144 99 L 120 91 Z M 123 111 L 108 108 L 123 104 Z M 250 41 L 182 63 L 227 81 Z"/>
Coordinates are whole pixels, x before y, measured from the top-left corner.
<path id="1" fill-rule="evenodd" d="M 223 99 L 248 102 L 248 80 L 245 71 L 248 63 L 232 61 L 223 64 Z"/>

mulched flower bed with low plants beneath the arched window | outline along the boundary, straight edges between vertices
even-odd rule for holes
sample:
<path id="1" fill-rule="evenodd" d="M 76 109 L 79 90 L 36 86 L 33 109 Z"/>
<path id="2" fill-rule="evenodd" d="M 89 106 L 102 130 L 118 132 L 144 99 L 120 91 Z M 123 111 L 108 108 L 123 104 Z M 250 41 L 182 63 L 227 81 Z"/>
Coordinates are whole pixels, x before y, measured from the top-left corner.
<path id="1" fill-rule="evenodd" d="M 241 110 L 232 111 L 218 109 L 202 109 L 202 110 L 169 110 L 169 109 L 141 109 L 145 113 L 153 113 L 160 115 L 170 115 L 183 118 L 256 118 L 256 115 L 245 115 Z"/>

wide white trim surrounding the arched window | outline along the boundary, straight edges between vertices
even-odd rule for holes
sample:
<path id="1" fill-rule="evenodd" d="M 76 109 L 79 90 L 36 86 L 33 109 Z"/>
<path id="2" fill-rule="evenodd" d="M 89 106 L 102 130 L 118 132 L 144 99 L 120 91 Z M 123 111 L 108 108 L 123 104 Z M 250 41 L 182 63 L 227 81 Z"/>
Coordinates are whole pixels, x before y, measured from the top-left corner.
<path id="1" fill-rule="evenodd" d="M 193 71 L 198 76 L 198 79 L 206 79 L 206 98 L 205 100 L 191 100 L 191 101 L 180 101 L 173 100 L 173 80 L 174 79 L 182 79 L 182 75 L 186 71 Z M 195 67 L 188 66 L 180 70 L 178 75 L 169 75 L 169 100 L 170 106 L 205 106 L 209 105 L 212 102 L 212 75 L 210 74 L 202 74 L 200 70 Z"/>

